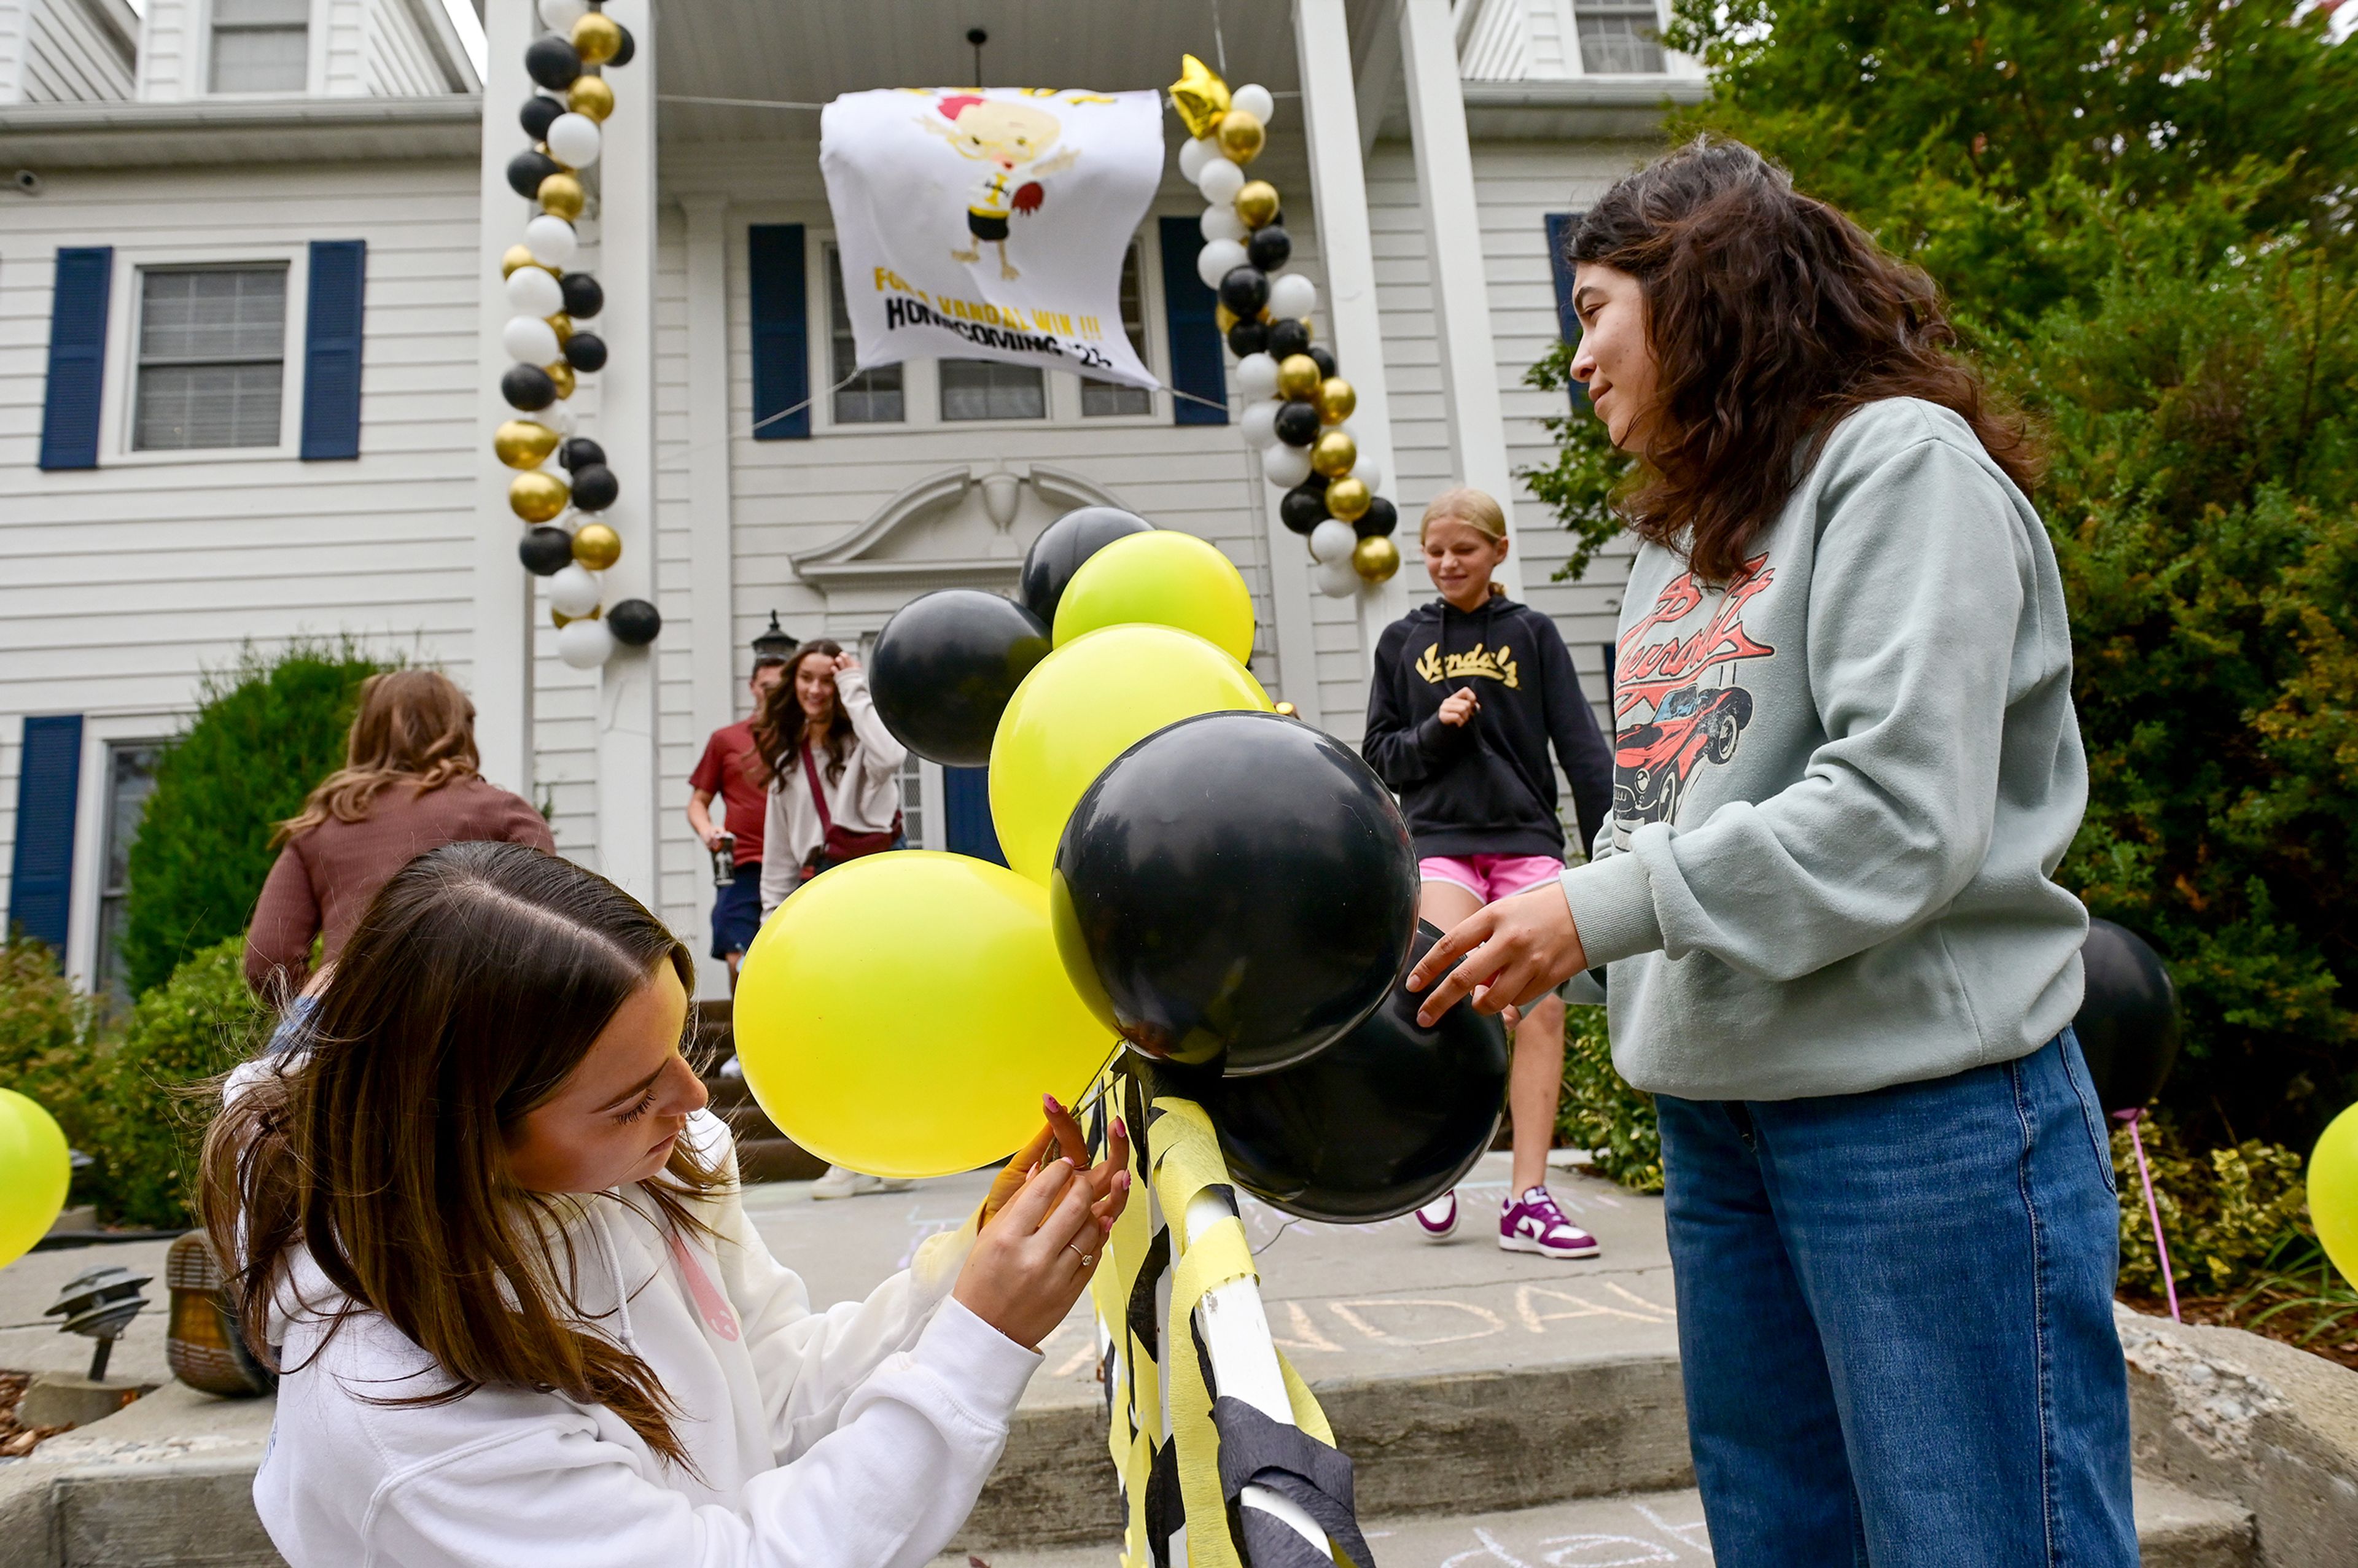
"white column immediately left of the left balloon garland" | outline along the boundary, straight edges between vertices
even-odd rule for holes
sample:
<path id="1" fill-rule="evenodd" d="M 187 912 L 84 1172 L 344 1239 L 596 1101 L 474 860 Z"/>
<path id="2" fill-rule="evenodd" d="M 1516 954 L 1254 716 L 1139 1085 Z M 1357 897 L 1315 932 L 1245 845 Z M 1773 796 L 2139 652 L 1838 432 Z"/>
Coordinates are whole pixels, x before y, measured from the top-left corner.
<path id="1" fill-rule="evenodd" d="M 467 696 L 483 778 L 533 797 L 533 575 L 516 559 L 523 523 L 507 509 L 514 469 L 490 453 L 490 431 L 516 415 L 500 396 L 507 349 L 507 288 L 500 255 L 523 238 L 533 203 L 507 189 L 507 160 L 523 151 L 516 106 L 533 92 L 523 45 L 533 40 L 531 0 L 483 7 L 483 189 L 476 243 L 476 446 L 474 446 L 474 648 Z"/>

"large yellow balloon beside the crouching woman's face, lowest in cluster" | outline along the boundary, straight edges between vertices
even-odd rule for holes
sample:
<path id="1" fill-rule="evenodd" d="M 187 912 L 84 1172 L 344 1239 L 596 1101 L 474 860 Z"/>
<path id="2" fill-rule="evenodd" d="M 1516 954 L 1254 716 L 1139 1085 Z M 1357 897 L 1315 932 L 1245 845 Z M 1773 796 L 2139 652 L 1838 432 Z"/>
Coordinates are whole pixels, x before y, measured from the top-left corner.
<path id="1" fill-rule="evenodd" d="M 872 1177 L 1005 1160 L 1040 1096 L 1075 1103 L 1115 1045 L 1063 974 L 1047 889 L 929 849 L 821 872 L 738 976 L 738 1061 L 769 1120 Z"/>

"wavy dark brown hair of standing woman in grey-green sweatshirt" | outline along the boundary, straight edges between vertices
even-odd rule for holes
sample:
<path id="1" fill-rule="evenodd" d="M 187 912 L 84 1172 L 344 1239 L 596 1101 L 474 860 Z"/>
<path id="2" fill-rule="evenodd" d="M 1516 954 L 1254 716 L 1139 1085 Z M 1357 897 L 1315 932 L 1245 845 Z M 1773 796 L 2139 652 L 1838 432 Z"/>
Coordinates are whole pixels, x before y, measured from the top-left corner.
<path id="1" fill-rule="evenodd" d="M 1625 177 L 1570 238 L 1573 262 L 1639 281 L 1660 368 L 1629 528 L 1726 582 L 1818 448 L 1860 403 L 1924 398 L 1974 427 L 2028 490 L 2023 427 L 1988 408 L 1941 295 L 1865 229 L 1740 141 L 1700 137 Z"/>

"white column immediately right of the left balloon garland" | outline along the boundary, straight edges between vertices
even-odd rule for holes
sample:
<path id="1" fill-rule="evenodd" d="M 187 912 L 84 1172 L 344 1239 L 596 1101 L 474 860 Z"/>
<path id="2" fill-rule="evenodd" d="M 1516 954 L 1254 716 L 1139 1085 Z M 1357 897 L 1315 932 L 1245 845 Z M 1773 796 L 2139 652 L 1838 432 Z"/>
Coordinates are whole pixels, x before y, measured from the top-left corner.
<path id="1" fill-rule="evenodd" d="M 656 24 L 646 0 L 613 0 L 637 57 L 613 73 L 613 113 L 599 151 L 597 429 L 620 498 L 606 514 L 623 559 L 606 571 L 606 604 L 656 599 Z M 677 637 L 665 630 L 665 637 Z M 656 856 L 656 646 L 615 648 L 597 693 L 599 870 L 632 898 L 660 908 Z"/>

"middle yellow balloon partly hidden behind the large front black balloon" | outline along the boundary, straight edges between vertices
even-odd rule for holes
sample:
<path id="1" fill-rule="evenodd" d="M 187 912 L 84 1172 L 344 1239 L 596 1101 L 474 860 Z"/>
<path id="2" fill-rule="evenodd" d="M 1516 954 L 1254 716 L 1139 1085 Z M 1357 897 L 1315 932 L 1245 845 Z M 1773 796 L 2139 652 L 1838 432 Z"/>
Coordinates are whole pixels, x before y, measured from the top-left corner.
<path id="1" fill-rule="evenodd" d="M 1193 632 L 1120 625 L 1059 644 L 1007 698 L 990 740 L 990 818 L 1007 863 L 1045 887 L 1066 818 L 1108 762 L 1165 724 L 1240 707 L 1269 712 L 1269 693 Z"/>

